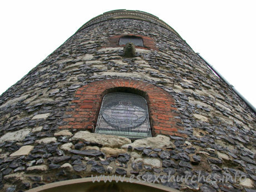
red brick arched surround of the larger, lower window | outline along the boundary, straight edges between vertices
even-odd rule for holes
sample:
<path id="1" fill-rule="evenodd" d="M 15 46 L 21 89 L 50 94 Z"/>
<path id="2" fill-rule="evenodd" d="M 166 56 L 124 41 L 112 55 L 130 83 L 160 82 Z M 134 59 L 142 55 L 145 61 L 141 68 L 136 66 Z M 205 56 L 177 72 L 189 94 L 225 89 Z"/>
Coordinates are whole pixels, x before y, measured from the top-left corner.
<path id="1" fill-rule="evenodd" d="M 175 101 L 168 92 L 146 82 L 124 79 L 95 81 L 78 88 L 75 93 L 77 100 L 73 100 L 70 106 L 73 110 L 66 112 L 66 115 L 71 117 L 64 119 L 67 125 L 60 126 L 60 129 L 94 129 L 102 98 L 118 87 L 131 88 L 144 93 L 149 107 L 153 136 L 155 134 L 186 136 L 178 133 L 178 129 L 183 127 L 176 125 L 181 121 L 174 118 L 179 114 L 175 107 L 171 107 L 175 105 Z"/>

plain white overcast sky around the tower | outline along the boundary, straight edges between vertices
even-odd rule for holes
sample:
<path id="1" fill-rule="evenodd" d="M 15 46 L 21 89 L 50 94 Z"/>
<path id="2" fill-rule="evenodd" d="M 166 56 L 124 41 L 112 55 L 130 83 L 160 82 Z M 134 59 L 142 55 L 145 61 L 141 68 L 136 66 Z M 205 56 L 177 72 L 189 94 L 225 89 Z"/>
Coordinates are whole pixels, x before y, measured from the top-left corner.
<path id="1" fill-rule="evenodd" d="M 91 18 L 114 9 L 162 19 L 254 107 L 256 1 L 1 1 L 0 95 Z"/>

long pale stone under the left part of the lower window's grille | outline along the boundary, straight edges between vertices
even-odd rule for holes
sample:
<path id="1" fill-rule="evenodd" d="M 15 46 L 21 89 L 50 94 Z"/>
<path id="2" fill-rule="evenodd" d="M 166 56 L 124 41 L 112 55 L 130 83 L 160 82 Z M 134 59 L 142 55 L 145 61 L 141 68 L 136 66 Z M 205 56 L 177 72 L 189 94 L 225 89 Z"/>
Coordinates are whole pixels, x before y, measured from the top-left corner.
<path id="1" fill-rule="evenodd" d="M 82 140 L 87 142 L 96 142 L 104 147 L 121 147 L 125 144 L 130 144 L 131 140 L 125 137 L 115 135 L 96 134 L 89 131 L 78 131 L 71 140 Z M 128 147 L 128 146 L 127 146 Z"/>

